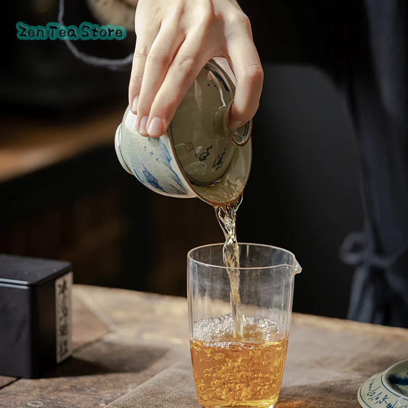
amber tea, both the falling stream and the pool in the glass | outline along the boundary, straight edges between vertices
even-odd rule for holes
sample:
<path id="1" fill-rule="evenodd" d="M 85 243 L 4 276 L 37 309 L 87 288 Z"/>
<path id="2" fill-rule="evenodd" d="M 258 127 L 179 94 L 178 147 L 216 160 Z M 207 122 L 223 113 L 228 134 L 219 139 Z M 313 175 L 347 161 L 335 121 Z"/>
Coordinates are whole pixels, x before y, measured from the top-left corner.
<path id="1" fill-rule="evenodd" d="M 206 408 L 266 408 L 279 396 L 288 337 L 266 319 L 244 316 L 239 294 L 240 262 L 236 234 L 242 196 L 215 207 L 225 236 L 223 262 L 230 278 L 231 313 L 193 323 L 190 339 L 198 402 Z"/>

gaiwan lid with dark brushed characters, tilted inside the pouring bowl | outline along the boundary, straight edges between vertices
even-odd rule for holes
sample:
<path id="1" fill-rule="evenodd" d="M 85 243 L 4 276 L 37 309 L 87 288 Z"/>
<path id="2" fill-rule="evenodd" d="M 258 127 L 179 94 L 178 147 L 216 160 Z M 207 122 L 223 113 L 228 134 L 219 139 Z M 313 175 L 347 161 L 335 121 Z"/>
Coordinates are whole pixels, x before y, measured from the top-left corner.
<path id="1" fill-rule="evenodd" d="M 230 131 L 235 85 L 225 71 L 210 60 L 200 71 L 169 126 L 175 154 L 190 183 L 212 185 L 230 167 L 236 149 L 244 146 L 252 121 Z"/>

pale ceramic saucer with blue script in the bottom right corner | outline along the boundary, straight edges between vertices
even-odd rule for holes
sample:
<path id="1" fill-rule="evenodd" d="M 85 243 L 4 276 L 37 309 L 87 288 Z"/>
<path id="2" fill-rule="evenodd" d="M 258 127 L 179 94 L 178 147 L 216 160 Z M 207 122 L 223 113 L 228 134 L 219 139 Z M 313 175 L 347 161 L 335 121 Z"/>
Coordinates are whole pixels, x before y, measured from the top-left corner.
<path id="1" fill-rule="evenodd" d="M 357 397 L 364 408 L 408 408 L 408 360 L 368 378 Z"/>

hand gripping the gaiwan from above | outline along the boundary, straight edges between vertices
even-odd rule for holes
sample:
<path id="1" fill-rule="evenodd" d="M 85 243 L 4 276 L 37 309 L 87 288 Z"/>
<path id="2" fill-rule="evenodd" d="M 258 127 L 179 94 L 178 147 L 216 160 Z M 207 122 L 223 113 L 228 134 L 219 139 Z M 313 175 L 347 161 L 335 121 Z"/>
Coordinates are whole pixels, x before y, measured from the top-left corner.
<path id="1" fill-rule="evenodd" d="M 257 112 L 263 69 L 236 0 L 139 0 L 129 105 L 143 136 L 163 135 L 203 66 L 223 57 L 235 75 L 232 130 Z M 230 71 L 231 72 L 231 71 Z"/>

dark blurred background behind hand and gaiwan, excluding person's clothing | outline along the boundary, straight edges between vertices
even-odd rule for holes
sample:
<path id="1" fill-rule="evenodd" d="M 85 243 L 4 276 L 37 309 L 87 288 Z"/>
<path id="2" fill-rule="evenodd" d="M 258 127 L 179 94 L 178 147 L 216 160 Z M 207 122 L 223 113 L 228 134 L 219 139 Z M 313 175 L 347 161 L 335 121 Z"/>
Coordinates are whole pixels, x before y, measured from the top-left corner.
<path id="1" fill-rule="evenodd" d="M 185 296 L 187 251 L 223 239 L 214 210 L 151 192 L 120 166 L 113 139 L 130 67 L 84 64 L 62 41 L 17 40 L 17 21 L 56 21 L 57 3 L 10 6 L 13 35 L 0 77 L 0 252 L 68 260 L 78 284 Z M 82 21 L 97 23 L 84 2 L 70 2 L 66 24 Z M 134 34 L 76 45 L 123 58 Z M 362 227 L 348 112 L 318 70 L 264 69 L 238 239 L 295 253 L 303 271 L 294 311 L 345 318 L 353 270 L 338 251 Z"/>

